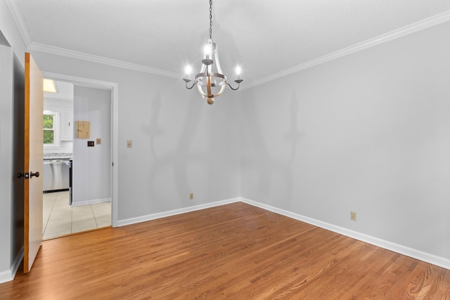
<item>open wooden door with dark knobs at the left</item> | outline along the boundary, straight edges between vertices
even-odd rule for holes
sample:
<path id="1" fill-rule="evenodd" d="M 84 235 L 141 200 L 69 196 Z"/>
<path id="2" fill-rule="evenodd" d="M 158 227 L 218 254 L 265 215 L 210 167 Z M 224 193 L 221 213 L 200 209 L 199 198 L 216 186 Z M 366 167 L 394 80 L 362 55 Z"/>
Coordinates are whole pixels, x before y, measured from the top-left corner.
<path id="1" fill-rule="evenodd" d="M 28 273 L 42 242 L 43 77 L 30 53 L 25 53 L 24 259 Z"/>

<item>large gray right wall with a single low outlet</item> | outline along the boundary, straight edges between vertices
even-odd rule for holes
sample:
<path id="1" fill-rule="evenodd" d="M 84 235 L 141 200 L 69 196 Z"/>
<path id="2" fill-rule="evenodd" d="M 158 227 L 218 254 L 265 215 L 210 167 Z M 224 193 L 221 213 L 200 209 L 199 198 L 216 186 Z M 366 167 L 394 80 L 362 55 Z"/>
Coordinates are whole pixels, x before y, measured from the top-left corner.
<path id="1" fill-rule="evenodd" d="M 243 91 L 241 195 L 450 259 L 449 32 Z"/>

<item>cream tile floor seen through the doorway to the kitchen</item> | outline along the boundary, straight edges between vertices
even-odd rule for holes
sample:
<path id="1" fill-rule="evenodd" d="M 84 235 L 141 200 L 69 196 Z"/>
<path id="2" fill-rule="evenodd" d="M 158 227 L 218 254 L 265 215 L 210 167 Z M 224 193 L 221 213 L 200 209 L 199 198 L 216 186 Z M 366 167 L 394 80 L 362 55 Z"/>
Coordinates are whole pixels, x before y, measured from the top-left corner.
<path id="1" fill-rule="evenodd" d="M 70 207 L 69 192 L 44 193 L 43 240 L 111 226 L 111 204 Z"/>

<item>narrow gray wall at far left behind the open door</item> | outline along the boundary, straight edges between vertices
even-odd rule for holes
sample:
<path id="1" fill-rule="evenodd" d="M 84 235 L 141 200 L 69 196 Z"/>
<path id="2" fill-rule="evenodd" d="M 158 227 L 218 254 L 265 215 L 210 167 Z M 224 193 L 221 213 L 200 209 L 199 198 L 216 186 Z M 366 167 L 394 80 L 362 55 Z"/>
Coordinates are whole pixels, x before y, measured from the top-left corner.
<path id="1" fill-rule="evenodd" d="M 5 44 L 0 32 L 0 282 L 11 280 L 24 242 L 23 179 L 15 174 L 23 171 L 25 75 Z"/>

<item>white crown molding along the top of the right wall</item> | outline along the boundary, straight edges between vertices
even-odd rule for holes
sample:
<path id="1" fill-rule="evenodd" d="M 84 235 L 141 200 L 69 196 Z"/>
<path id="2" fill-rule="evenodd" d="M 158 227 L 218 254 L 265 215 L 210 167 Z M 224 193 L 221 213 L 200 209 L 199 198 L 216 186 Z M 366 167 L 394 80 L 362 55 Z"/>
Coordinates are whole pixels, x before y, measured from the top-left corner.
<path id="1" fill-rule="evenodd" d="M 407 25 L 405 27 L 401 27 L 397 30 L 393 30 L 391 32 L 387 32 L 378 37 L 374 37 L 373 39 L 368 39 L 359 44 L 354 44 L 353 46 L 349 46 L 347 48 L 343 48 L 339 51 L 335 51 L 333 53 L 327 54 L 326 56 L 322 56 L 320 58 L 316 58 L 314 60 L 309 60 L 306 63 L 302 63 L 300 65 L 296 65 L 295 67 L 290 67 L 289 69 L 283 70 L 281 72 L 277 72 L 270 76 L 264 77 L 262 79 L 257 79 L 252 81 L 250 84 L 246 84 L 244 89 L 249 89 L 253 86 L 259 86 L 260 84 L 265 84 L 266 82 L 285 77 L 287 75 L 300 72 L 302 70 L 309 69 L 310 67 L 314 67 L 316 65 L 321 65 L 322 63 L 329 62 L 330 60 L 335 60 L 338 58 L 342 58 L 343 56 L 348 56 L 349 54 L 362 51 L 367 48 L 371 48 L 373 46 L 377 46 L 379 44 L 386 43 L 387 41 L 392 41 L 393 39 L 398 39 L 399 37 L 404 37 L 408 34 L 418 32 L 420 30 L 425 30 L 429 27 L 433 27 L 435 25 L 439 25 L 443 22 L 450 21 L 450 11 L 446 11 L 444 13 L 439 13 L 438 15 L 434 15 L 430 18 L 421 20 L 419 22 L 415 22 L 411 25 Z"/>

